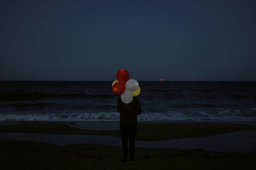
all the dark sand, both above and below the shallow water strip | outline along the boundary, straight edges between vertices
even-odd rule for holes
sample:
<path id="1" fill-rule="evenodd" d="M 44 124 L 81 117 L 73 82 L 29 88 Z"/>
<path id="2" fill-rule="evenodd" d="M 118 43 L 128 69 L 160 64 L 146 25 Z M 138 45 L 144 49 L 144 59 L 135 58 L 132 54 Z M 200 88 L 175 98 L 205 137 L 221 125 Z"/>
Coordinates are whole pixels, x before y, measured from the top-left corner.
<path id="1" fill-rule="evenodd" d="M 161 142 L 172 139 L 205 139 L 253 131 L 253 129 L 256 129 L 253 124 L 148 122 L 138 124 L 136 141 Z M 120 137 L 118 129 L 113 131 L 77 129 L 70 127 L 65 122 L 28 122 L 22 124 L 2 122 L 0 133 Z M 51 142 L 3 139 L 0 143 L 0 160 L 3 169 L 255 169 L 254 162 L 256 160 L 254 149 L 218 152 L 200 148 L 185 150 L 137 146 L 136 162 L 122 163 L 120 162 L 122 157 L 120 146 L 100 143 L 56 145 Z"/>

